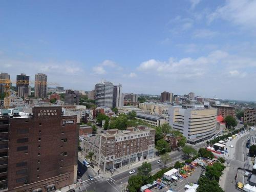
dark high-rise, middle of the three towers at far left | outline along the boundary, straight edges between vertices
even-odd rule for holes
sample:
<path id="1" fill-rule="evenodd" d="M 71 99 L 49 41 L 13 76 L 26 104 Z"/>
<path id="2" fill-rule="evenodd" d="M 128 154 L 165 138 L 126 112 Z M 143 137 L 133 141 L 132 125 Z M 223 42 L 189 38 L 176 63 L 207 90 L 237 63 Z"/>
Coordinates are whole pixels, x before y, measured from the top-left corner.
<path id="1" fill-rule="evenodd" d="M 16 77 L 16 91 L 18 91 L 18 97 L 27 98 L 29 96 L 29 76 L 25 73 L 17 75 Z"/>

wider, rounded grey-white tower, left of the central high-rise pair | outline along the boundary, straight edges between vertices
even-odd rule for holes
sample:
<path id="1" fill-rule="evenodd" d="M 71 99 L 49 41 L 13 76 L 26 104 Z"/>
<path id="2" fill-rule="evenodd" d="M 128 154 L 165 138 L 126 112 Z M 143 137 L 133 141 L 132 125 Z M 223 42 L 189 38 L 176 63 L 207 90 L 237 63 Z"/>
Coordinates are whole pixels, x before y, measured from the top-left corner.
<path id="1" fill-rule="evenodd" d="M 113 107 L 114 85 L 112 82 L 101 81 L 95 85 L 94 90 L 97 106 Z"/>

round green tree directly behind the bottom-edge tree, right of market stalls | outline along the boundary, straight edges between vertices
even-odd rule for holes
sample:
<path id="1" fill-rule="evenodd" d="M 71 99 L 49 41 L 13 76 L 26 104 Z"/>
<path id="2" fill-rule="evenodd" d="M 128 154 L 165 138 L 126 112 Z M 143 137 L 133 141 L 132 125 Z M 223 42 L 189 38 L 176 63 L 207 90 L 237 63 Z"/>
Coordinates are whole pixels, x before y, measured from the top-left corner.
<path id="1" fill-rule="evenodd" d="M 225 166 L 222 163 L 216 162 L 212 166 L 206 166 L 205 176 L 209 179 L 219 181 Z"/>

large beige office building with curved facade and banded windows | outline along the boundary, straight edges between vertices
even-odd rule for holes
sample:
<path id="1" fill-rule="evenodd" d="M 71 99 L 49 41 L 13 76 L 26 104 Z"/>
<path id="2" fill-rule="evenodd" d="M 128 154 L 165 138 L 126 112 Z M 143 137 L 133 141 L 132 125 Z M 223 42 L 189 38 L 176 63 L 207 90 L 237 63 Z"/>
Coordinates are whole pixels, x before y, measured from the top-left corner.
<path id="1" fill-rule="evenodd" d="M 200 142 L 217 133 L 217 109 L 204 109 L 196 105 L 187 109 L 170 106 L 168 122 L 174 130 L 180 131 L 188 142 Z"/>

